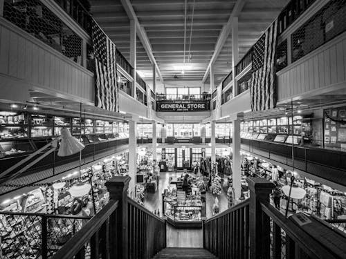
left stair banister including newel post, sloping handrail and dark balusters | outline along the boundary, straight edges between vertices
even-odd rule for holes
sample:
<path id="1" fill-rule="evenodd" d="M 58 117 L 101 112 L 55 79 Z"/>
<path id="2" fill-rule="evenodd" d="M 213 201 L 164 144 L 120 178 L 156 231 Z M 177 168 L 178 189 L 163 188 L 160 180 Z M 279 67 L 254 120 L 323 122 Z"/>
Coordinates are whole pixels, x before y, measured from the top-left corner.
<path id="1" fill-rule="evenodd" d="M 66 242 L 52 259 L 150 259 L 166 247 L 166 224 L 127 196 L 131 178 L 113 177 L 110 202 Z"/>

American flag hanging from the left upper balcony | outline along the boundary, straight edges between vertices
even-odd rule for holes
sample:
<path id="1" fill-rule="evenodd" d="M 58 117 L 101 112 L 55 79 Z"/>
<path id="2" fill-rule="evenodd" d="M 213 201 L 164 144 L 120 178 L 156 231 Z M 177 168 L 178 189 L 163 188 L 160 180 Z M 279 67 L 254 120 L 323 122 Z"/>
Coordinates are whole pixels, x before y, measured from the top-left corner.
<path id="1" fill-rule="evenodd" d="M 93 21 L 91 37 L 95 59 L 95 106 L 119 111 L 116 80 L 116 45 Z"/>

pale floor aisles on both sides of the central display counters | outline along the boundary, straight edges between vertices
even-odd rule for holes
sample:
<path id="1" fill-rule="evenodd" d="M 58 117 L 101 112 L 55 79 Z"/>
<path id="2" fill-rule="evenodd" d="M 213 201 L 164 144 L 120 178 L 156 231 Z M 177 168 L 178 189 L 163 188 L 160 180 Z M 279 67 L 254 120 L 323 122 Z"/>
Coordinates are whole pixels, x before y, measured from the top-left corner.
<path id="1" fill-rule="evenodd" d="M 161 217 L 163 216 L 162 211 L 162 193 L 164 189 L 167 189 L 168 182 L 170 180 L 170 177 L 176 178 L 177 176 L 181 175 L 181 171 L 178 172 L 165 172 L 160 173 L 160 178 L 158 180 L 158 190 L 156 193 L 147 193 L 145 195 L 144 200 L 144 207 L 146 209 L 149 209 L 149 211 L 156 211 L 159 210 Z M 227 178 L 224 179 L 223 185 L 227 186 Z M 224 186 L 223 186 L 224 187 Z M 227 190 L 227 187 L 226 187 Z M 225 211 L 228 209 L 228 198 L 226 195 L 225 188 L 222 188 L 221 195 L 217 197 L 219 199 L 219 211 Z M 215 196 L 212 195 L 209 191 L 206 193 L 206 218 L 212 217 L 212 205 L 215 202 Z"/>

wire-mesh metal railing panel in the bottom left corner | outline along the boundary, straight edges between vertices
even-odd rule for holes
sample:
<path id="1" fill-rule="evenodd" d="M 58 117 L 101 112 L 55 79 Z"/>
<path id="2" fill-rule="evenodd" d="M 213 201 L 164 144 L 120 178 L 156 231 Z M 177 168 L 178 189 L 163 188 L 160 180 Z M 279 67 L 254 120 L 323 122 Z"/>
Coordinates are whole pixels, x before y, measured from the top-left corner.
<path id="1" fill-rule="evenodd" d="M 1 258 L 51 258 L 90 217 L 0 213 Z"/>

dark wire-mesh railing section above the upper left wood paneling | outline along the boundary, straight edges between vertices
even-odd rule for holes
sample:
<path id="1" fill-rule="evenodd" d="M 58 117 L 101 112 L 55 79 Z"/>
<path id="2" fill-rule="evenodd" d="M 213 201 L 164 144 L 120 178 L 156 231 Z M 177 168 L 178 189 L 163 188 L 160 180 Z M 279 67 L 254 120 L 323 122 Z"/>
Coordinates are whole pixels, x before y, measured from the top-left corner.
<path id="1" fill-rule="evenodd" d="M 3 18 L 82 65 L 82 39 L 41 1 L 5 1 Z"/>

